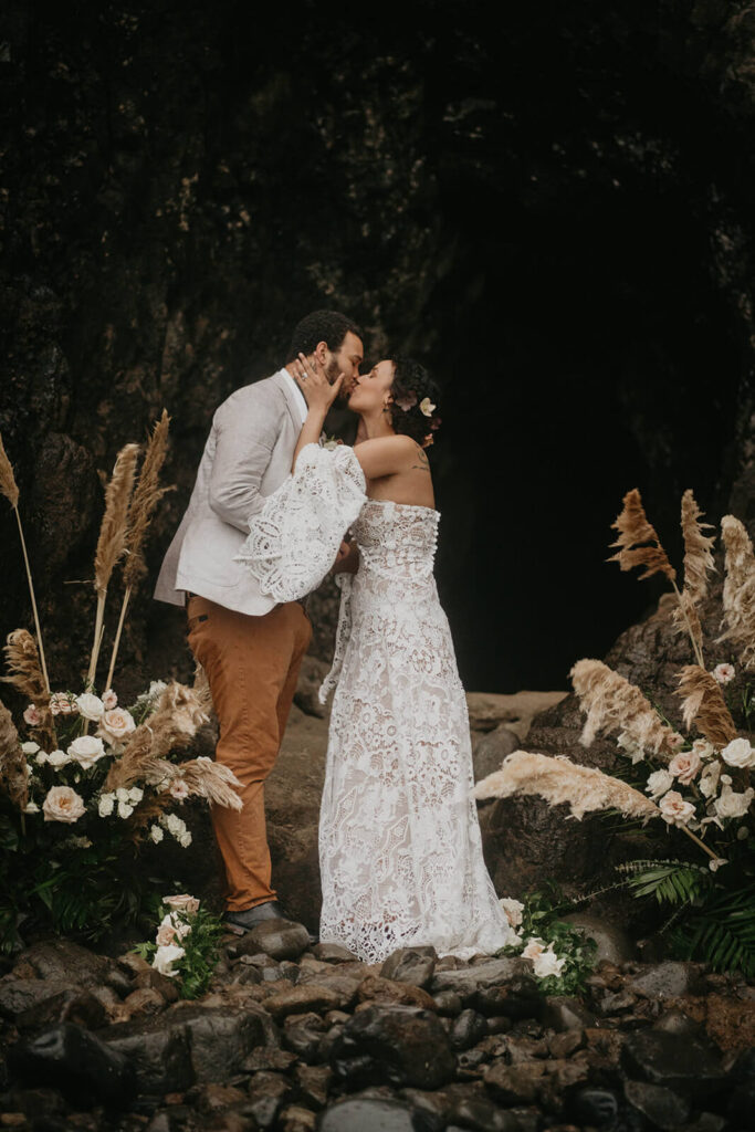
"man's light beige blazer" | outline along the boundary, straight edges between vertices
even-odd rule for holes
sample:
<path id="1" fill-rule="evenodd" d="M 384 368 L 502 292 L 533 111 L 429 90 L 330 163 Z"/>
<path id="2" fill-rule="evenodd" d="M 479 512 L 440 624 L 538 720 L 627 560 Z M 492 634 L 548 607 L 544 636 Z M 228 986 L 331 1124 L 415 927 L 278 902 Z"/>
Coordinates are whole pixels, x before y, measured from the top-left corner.
<path id="1" fill-rule="evenodd" d="M 241 614 L 273 609 L 275 601 L 233 556 L 249 534 L 249 517 L 289 475 L 304 413 L 284 369 L 237 389 L 217 409 L 189 506 L 160 571 L 157 601 L 182 606 L 187 593 L 196 593 Z"/>

